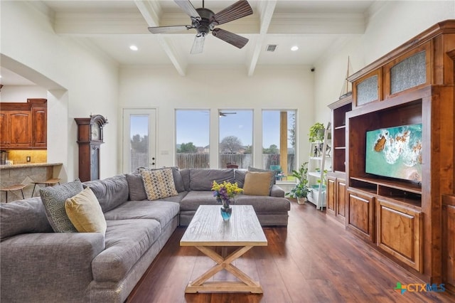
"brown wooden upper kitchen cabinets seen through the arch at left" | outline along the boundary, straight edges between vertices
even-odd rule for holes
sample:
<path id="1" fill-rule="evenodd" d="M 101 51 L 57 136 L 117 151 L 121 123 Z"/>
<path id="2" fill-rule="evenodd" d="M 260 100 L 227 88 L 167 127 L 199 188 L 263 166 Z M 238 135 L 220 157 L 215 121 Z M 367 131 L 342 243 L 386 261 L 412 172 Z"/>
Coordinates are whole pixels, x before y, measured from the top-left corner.
<path id="1" fill-rule="evenodd" d="M 1 102 L 1 149 L 45 149 L 47 147 L 46 102 L 45 99 Z"/>

